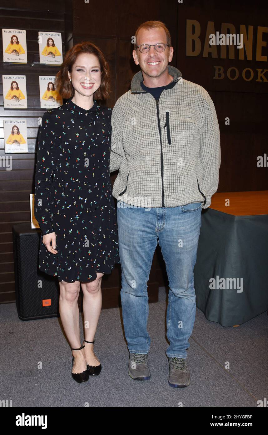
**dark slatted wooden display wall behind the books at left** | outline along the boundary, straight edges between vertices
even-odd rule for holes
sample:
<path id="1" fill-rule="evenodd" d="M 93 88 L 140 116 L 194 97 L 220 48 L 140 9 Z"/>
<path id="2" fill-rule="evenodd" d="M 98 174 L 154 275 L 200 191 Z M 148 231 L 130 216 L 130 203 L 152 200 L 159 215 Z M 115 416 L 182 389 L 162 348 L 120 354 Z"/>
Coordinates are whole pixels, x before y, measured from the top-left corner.
<path id="1" fill-rule="evenodd" d="M 21 117 L 27 120 L 27 139 L 36 145 L 38 118 L 46 109 L 40 109 L 39 76 L 56 75 L 58 66 L 39 64 L 38 31 L 62 33 L 63 55 L 65 53 L 66 5 L 72 2 L 48 0 L 44 2 L 13 0 L 12 4 L 2 0 L 0 27 L 26 30 L 27 64 L 3 62 L 2 31 L 0 34 L 0 158 L 12 156 L 12 170 L 0 166 L 0 303 L 15 301 L 12 227 L 14 224 L 30 221 L 29 195 L 34 192 L 36 154 L 5 154 L 3 119 Z M 49 12 L 48 12 L 49 11 Z M 32 62 L 37 64 L 31 65 Z M 26 76 L 27 109 L 9 110 L 3 108 L 2 74 L 23 74 Z"/>

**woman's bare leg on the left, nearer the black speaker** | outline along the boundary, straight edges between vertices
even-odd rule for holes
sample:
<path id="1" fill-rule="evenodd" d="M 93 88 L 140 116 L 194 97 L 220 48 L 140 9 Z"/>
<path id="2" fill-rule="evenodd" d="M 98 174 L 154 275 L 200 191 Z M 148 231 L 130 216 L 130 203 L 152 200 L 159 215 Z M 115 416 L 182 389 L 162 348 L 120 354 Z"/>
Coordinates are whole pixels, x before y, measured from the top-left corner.
<path id="1" fill-rule="evenodd" d="M 62 321 L 63 328 L 71 348 L 80 348 L 81 341 L 79 332 L 79 308 L 77 304 L 80 290 L 80 281 L 59 281 L 59 284 L 60 319 Z M 79 351 L 72 351 L 73 357 L 75 358 L 73 364 L 73 373 L 81 373 L 82 371 L 86 370 L 86 358 L 84 350 L 85 348 Z"/>

